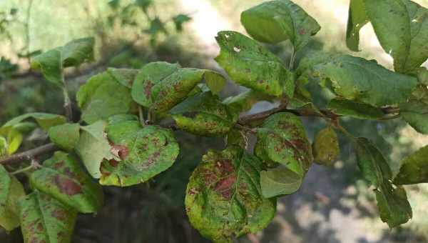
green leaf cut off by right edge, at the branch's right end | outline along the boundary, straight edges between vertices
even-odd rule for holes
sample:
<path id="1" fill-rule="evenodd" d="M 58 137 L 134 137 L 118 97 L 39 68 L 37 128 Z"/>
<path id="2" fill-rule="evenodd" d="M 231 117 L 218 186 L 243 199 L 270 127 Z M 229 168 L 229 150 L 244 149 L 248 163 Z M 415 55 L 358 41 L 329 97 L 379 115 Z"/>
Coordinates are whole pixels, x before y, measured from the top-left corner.
<path id="1" fill-rule="evenodd" d="M 399 105 L 399 114 L 417 132 L 428 134 L 428 88 L 418 86 L 410 99 Z"/>

